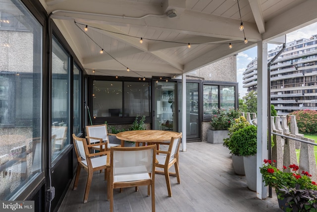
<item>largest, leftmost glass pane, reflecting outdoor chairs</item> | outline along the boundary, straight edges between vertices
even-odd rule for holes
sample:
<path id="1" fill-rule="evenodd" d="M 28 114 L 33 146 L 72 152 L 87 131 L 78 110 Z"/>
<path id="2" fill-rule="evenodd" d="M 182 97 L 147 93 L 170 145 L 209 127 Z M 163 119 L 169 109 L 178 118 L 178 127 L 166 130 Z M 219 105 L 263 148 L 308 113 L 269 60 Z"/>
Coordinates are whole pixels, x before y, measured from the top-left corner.
<path id="1" fill-rule="evenodd" d="M 42 171 L 43 28 L 15 0 L 1 3 L 0 19 L 0 199 L 9 200 Z"/>

